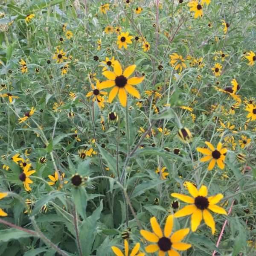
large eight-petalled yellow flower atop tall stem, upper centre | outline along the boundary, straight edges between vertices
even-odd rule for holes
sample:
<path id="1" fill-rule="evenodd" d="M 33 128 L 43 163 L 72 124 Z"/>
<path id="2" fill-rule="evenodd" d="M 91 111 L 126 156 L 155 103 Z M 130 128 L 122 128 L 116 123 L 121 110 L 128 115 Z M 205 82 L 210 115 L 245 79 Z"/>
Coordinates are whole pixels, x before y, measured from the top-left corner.
<path id="1" fill-rule="evenodd" d="M 140 99 L 140 93 L 138 92 L 137 89 L 134 88 L 133 85 L 142 82 L 145 76 L 128 78 L 134 72 L 136 65 L 128 66 L 123 71 L 119 61 L 115 61 L 113 68 L 114 72 L 104 71 L 102 73 L 102 75 L 109 80 L 100 83 L 99 89 L 102 90 L 105 88 L 113 87 L 108 96 L 109 102 L 111 103 L 118 93 L 121 105 L 123 107 L 126 107 L 127 93 L 130 93 L 132 96 L 136 97 L 137 99 Z"/>

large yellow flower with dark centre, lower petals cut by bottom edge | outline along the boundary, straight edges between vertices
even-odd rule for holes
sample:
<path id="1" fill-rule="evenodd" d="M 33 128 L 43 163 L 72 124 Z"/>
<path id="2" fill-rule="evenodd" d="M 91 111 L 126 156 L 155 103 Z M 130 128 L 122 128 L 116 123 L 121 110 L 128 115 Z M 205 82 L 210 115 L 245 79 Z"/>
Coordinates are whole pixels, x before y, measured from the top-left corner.
<path id="1" fill-rule="evenodd" d="M 155 243 L 145 247 L 147 253 L 158 251 L 159 256 L 165 256 L 166 253 L 168 253 L 169 256 L 180 256 L 180 253 L 178 253 L 177 250 L 183 251 L 191 247 L 191 244 L 181 242 L 181 240 L 189 233 L 189 228 L 177 230 L 172 234 L 173 222 L 173 215 L 169 215 L 166 219 L 164 232 L 162 232 L 156 217 L 152 217 L 150 223 L 154 233 L 147 230 L 140 230 L 140 234 L 144 239 Z"/>

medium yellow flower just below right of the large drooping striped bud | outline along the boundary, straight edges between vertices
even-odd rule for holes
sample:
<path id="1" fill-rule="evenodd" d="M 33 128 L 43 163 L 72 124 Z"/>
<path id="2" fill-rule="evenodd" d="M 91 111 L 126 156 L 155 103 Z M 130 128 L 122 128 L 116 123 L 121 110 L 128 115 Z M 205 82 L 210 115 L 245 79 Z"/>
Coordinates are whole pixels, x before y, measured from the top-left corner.
<path id="1" fill-rule="evenodd" d="M 211 143 L 208 141 L 205 141 L 205 144 L 209 147 L 207 148 L 196 148 L 197 151 L 199 151 L 202 154 L 205 154 L 206 156 L 201 158 L 201 162 L 207 162 L 210 161 L 208 170 L 212 170 L 215 166 L 215 164 L 218 164 L 218 167 L 223 170 L 225 168 L 224 160 L 227 153 L 227 148 L 222 148 L 222 143 L 219 142 L 217 145 L 217 148 L 215 148 Z"/>

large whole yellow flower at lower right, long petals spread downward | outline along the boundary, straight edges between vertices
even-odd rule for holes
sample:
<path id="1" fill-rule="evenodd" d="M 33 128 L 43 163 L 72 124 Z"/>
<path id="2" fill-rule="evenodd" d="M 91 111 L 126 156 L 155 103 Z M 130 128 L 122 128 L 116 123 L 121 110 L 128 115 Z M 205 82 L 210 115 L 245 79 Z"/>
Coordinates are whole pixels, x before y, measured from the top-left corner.
<path id="1" fill-rule="evenodd" d="M 175 212 L 174 216 L 175 218 L 184 217 L 187 215 L 191 216 L 191 230 L 192 232 L 195 232 L 198 229 L 198 226 L 200 225 L 202 218 L 204 218 L 205 224 L 209 226 L 212 229 L 212 234 L 215 233 L 215 221 L 212 218 L 211 213 L 216 212 L 219 214 L 227 215 L 227 212 L 222 207 L 219 207 L 218 202 L 221 201 L 223 198 L 222 194 L 217 194 L 215 196 L 207 197 L 208 191 L 207 186 L 201 186 L 200 189 L 197 189 L 192 183 L 187 182 L 187 189 L 192 195 L 192 197 L 178 194 L 178 193 L 172 193 L 171 196 L 174 198 L 178 198 L 181 201 L 188 203 L 189 205 L 183 207 L 179 211 Z"/>

